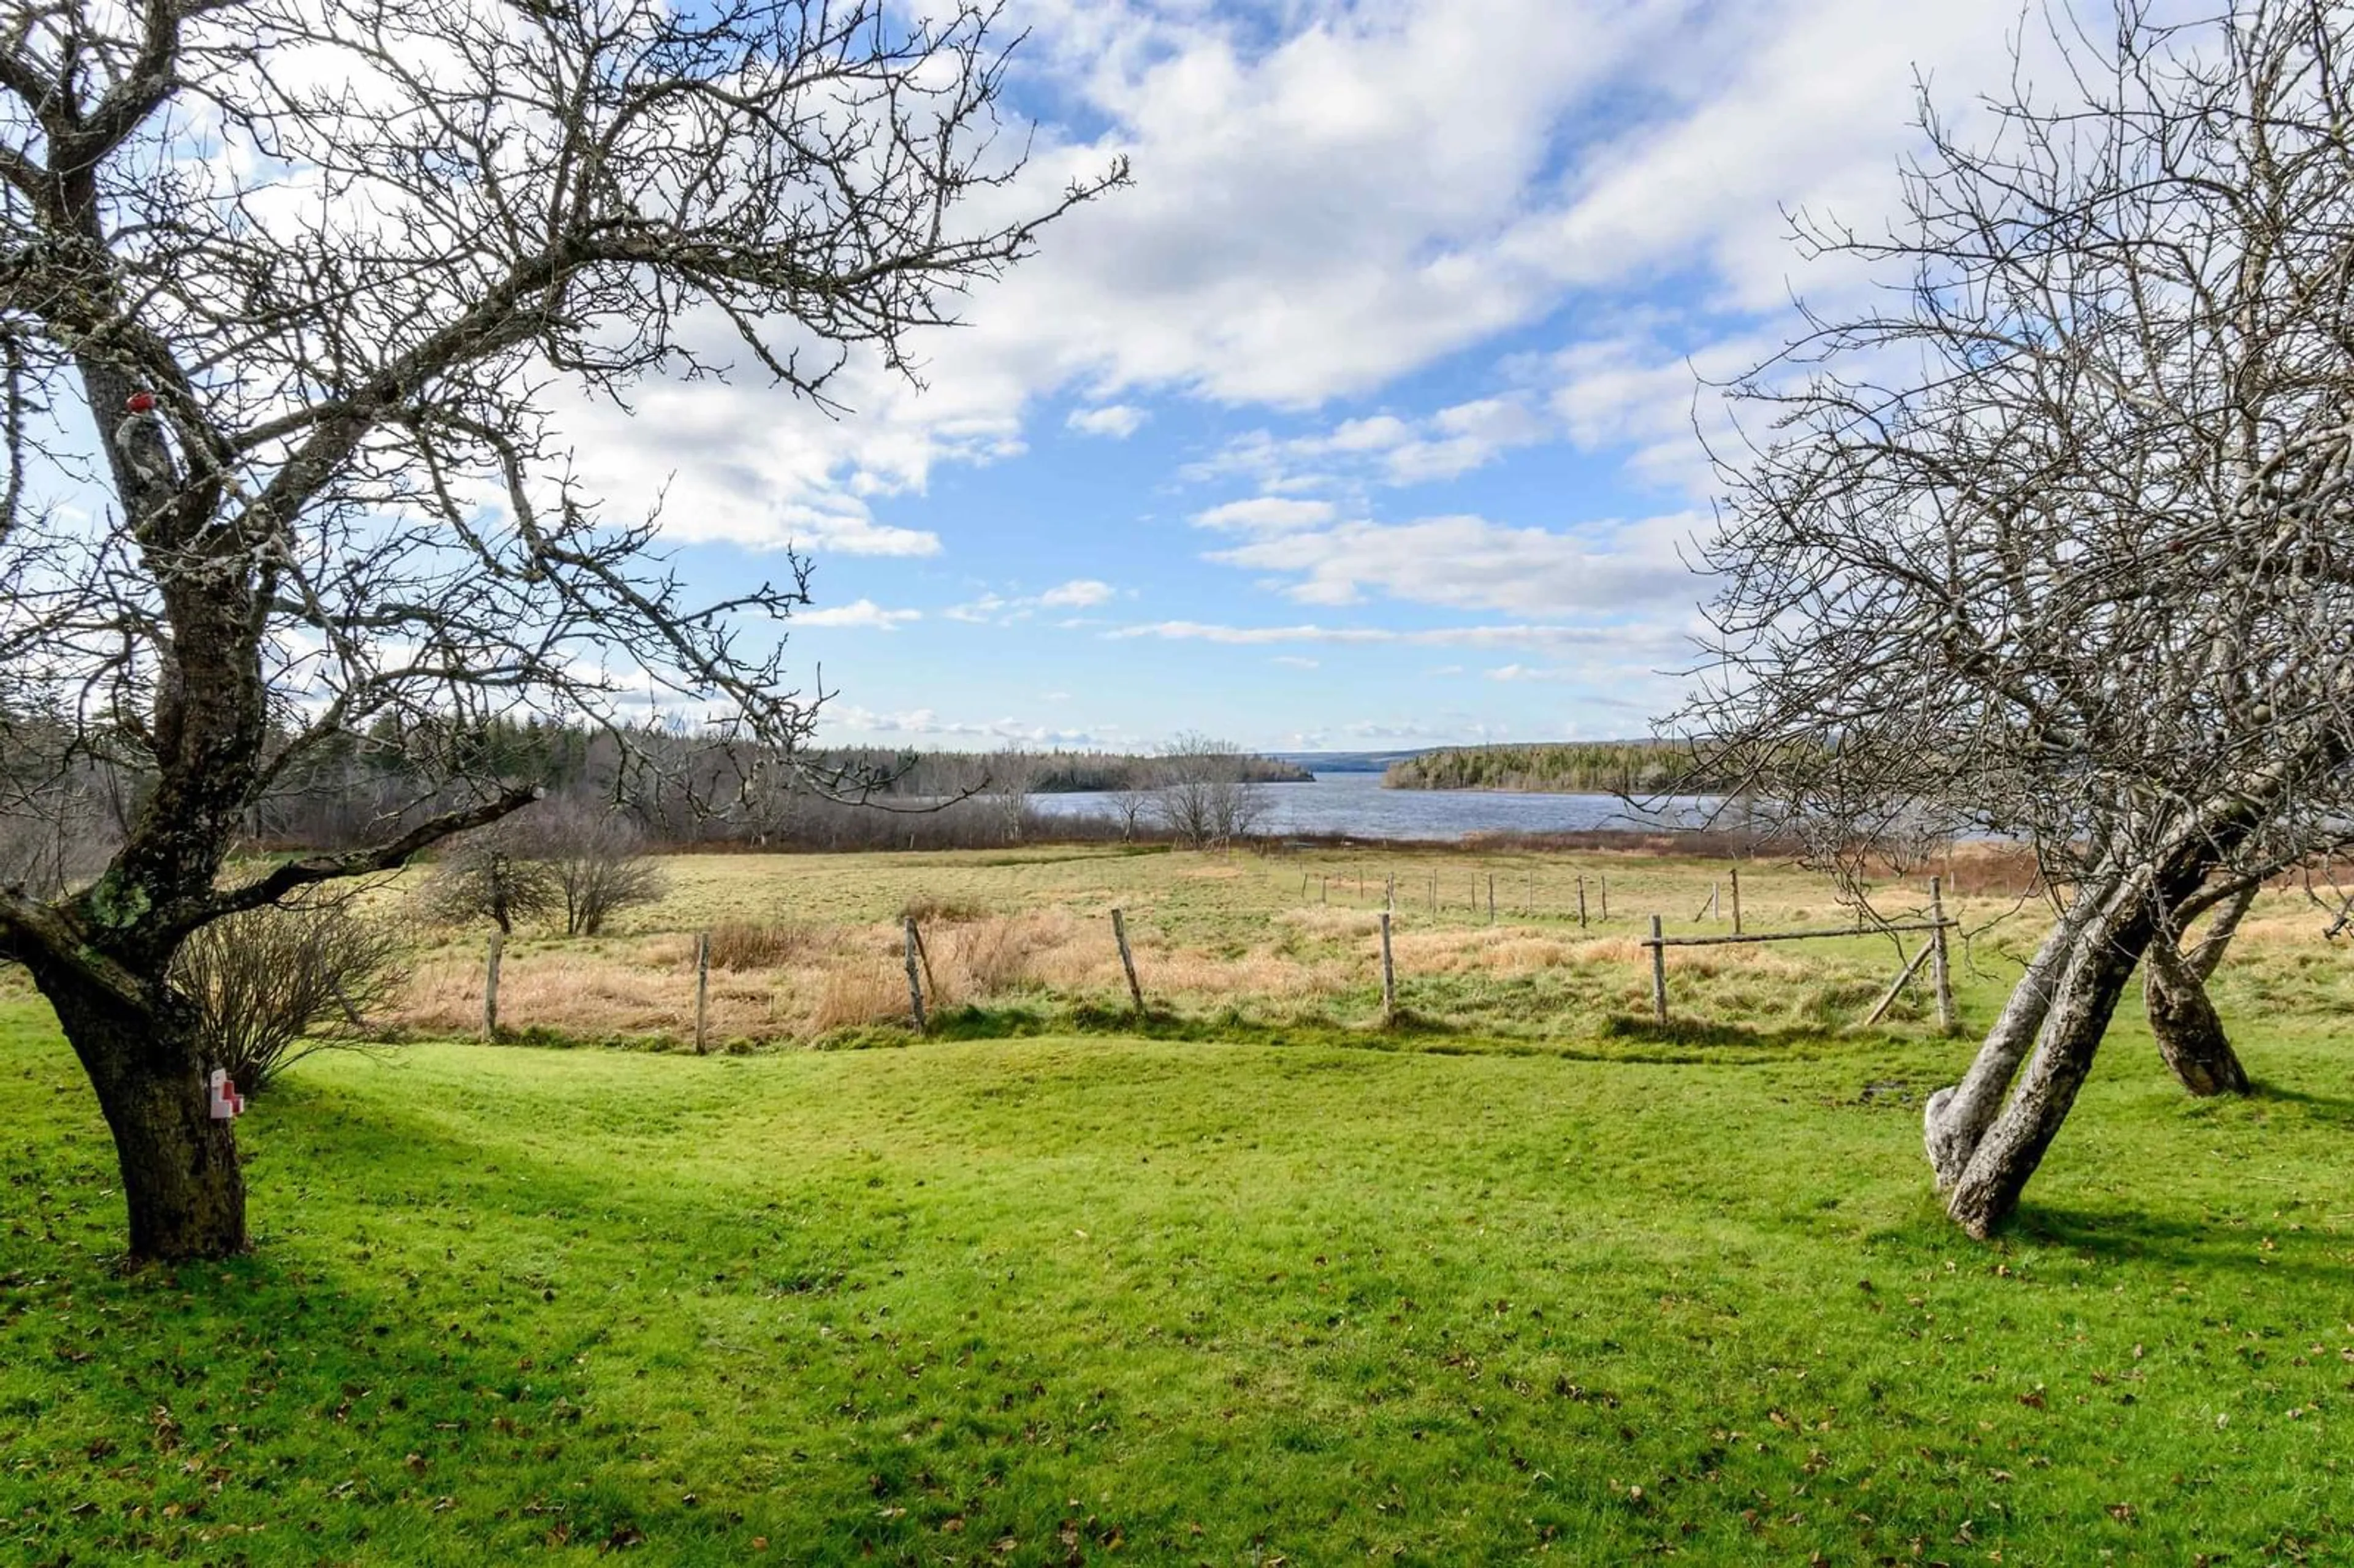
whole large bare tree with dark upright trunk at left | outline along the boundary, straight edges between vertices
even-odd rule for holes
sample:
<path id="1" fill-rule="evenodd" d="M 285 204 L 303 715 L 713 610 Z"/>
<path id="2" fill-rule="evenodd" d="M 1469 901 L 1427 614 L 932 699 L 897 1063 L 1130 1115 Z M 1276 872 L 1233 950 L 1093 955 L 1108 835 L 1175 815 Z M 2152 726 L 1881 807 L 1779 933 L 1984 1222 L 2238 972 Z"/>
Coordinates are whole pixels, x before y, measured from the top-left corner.
<path id="1" fill-rule="evenodd" d="M 0 28 L 0 711 L 146 791 L 92 888 L 0 892 L 115 1137 L 137 1257 L 245 1245 L 172 956 L 532 798 L 490 718 L 671 692 L 765 758 L 812 699 L 763 622 L 607 523 L 548 410 L 730 360 L 819 405 L 1033 250 L 989 0 L 125 0 Z M 986 202 L 1003 212 L 1005 200 Z M 89 431 L 97 431 L 97 440 Z M 59 504 L 82 476 L 108 506 Z M 52 494 L 56 492 L 56 494 Z M 94 520 L 89 520 L 94 518 Z M 31 725 L 21 725 L 28 727 Z M 365 848 L 224 888 L 327 746 L 417 786 Z"/>

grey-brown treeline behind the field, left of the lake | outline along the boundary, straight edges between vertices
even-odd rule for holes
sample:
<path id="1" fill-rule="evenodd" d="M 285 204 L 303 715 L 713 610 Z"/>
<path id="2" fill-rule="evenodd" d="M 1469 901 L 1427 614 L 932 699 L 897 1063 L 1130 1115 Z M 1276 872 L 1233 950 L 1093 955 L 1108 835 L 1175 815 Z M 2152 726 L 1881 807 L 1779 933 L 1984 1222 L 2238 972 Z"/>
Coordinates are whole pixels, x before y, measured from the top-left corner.
<path id="1" fill-rule="evenodd" d="M 593 810 L 647 848 L 956 850 L 1033 838 L 1226 841 L 1257 819 L 1257 789 L 1309 779 L 1295 763 L 1222 744 L 1109 751 L 833 749 L 777 758 L 683 725 L 600 730 L 544 718 L 464 727 L 374 725 L 311 746 L 245 822 L 252 852 L 381 843 L 480 789 L 534 784 L 525 815 Z M 466 777 L 473 791 L 435 786 Z M 104 869 L 141 810 L 148 772 L 68 744 L 59 725 L 0 720 L 0 885 L 59 890 Z M 1106 791 L 1104 815 L 1038 796 Z M 1208 791 L 1208 793 L 1205 793 Z"/>

